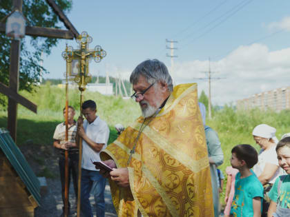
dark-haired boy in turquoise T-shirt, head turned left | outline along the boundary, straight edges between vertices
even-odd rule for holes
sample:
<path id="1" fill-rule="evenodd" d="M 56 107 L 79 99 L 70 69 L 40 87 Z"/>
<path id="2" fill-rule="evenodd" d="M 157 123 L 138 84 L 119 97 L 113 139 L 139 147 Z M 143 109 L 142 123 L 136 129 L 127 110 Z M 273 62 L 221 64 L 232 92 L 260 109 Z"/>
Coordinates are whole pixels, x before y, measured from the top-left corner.
<path id="1" fill-rule="evenodd" d="M 231 216 L 261 216 L 263 186 L 250 170 L 258 162 L 258 153 L 251 145 L 236 145 L 231 150 L 231 165 L 238 169 Z"/>

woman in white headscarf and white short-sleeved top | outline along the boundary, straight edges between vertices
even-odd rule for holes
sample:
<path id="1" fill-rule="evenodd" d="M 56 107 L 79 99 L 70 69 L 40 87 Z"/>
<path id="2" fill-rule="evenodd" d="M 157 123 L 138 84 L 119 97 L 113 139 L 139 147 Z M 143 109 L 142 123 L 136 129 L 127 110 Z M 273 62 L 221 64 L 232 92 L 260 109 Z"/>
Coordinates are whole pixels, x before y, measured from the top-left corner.
<path id="1" fill-rule="evenodd" d="M 278 139 L 275 134 L 276 129 L 267 124 L 260 124 L 253 129 L 253 139 L 261 147 L 258 163 L 253 167 L 253 172 L 264 187 L 262 217 L 267 216 L 269 208 L 270 200 L 266 194 L 281 173 L 276 153 Z"/>

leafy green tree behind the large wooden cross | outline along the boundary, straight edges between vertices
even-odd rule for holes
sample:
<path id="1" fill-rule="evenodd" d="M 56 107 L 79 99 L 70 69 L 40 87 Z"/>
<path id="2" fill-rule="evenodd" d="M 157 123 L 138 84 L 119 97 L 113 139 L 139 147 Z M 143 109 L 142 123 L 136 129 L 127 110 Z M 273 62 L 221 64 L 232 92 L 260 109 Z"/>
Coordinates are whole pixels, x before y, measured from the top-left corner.
<path id="1" fill-rule="evenodd" d="M 57 5 L 63 12 L 67 13 L 72 7 L 72 0 L 56 0 Z M 0 1 L 0 20 L 12 11 L 11 0 Z M 47 28 L 61 28 L 61 22 L 48 6 L 45 0 L 23 1 L 22 12 L 27 19 L 26 25 L 41 26 Z M 49 55 L 51 48 L 57 45 L 58 39 L 45 37 L 28 37 L 21 40 L 21 55 L 19 64 L 19 90 L 32 92 L 35 83 L 39 82 L 40 72 L 48 73 L 39 65 L 41 51 Z M 5 33 L 0 34 L 0 82 L 8 85 L 10 65 L 10 43 L 11 39 Z M 6 104 L 6 96 L 0 94 L 0 104 Z"/>

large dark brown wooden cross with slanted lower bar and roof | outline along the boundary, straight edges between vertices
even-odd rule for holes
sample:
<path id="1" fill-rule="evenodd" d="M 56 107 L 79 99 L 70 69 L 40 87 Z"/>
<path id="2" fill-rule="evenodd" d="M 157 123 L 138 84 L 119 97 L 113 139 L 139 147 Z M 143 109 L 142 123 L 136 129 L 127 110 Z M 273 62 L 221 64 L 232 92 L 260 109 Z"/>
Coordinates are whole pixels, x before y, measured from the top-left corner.
<path id="1" fill-rule="evenodd" d="M 43 28 L 36 26 L 26 26 L 26 34 L 37 37 L 50 37 L 57 39 L 77 39 L 79 33 L 70 23 L 64 12 L 53 0 L 46 0 L 48 5 L 57 14 L 68 30 L 59 30 L 55 28 Z M 13 0 L 13 9 L 22 11 L 22 0 Z M 6 31 L 6 23 L 0 23 L 0 32 Z M 8 96 L 8 130 L 16 143 L 17 135 L 17 103 L 37 113 L 37 105 L 18 94 L 19 90 L 19 56 L 20 41 L 12 40 L 10 48 L 10 68 L 9 68 L 9 87 L 0 83 L 0 92 Z"/>

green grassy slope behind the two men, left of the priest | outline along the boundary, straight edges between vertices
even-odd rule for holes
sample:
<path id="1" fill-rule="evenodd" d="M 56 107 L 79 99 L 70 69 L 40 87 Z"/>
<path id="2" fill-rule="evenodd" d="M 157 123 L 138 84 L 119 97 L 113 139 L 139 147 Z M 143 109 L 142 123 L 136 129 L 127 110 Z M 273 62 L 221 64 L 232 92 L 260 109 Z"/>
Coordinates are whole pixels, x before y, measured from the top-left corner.
<path id="1" fill-rule="evenodd" d="M 65 89 L 55 85 L 41 85 L 34 93 L 20 92 L 20 94 L 37 105 L 37 114 L 30 112 L 19 105 L 17 113 L 17 144 L 28 141 L 37 144 L 52 144 L 55 127 L 64 121 L 62 110 L 66 103 Z M 69 104 L 75 107 L 76 116 L 79 116 L 80 92 L 77 89 L 69 90 Z M 124 126 L 133 122 L 140 114 L 139 105 L 131 99 L 122 97 L 104 96 L 98 92 L 84 92 L 84 101 L 92 99 L 97 103 L 97 115 L 106 121 L 110 127 L 110 140 L 117 137 L 114 125 L 122 123 Z M 33 124 L 34 123 L 34 124 Z M 0 127 L 7 127 L 7 112 L 0 110 Z"/>

